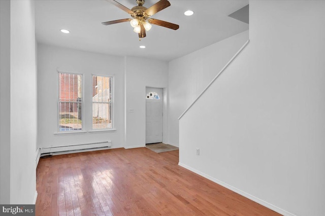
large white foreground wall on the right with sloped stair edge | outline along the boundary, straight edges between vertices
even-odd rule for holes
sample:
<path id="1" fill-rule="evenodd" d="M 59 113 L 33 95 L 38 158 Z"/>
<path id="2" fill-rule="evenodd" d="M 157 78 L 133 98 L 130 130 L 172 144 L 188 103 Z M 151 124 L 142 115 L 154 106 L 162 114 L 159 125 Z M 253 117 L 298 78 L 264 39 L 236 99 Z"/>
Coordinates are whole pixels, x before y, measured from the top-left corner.
<path id="1" fill-rule="evenodd" d="M 250 43 L 180 119 L 180 164 L 282 214 L 325 215 L 325 2 L 249 10 Z"/>

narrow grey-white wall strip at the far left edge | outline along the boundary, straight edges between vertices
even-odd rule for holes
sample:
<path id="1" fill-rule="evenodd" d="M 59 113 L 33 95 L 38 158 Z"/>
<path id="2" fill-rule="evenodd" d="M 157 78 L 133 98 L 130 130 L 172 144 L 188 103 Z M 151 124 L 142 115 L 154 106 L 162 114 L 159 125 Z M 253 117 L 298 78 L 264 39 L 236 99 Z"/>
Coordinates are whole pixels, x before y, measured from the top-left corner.
<path id="1" fill-rule="evenodd" d="M 0 203 L 10 203 L 10 1 L 0 1 Z"/>

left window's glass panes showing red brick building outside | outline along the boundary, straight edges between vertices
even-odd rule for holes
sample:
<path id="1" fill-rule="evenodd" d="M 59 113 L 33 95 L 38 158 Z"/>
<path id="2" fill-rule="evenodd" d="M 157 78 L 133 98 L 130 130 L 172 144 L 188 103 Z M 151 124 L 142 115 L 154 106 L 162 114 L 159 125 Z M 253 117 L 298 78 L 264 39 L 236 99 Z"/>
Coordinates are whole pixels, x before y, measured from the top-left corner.
<path id="1" fill-rule="evenodd" d="M 58 130 L 82 130 L 82 75 L 59 73 Z"/>

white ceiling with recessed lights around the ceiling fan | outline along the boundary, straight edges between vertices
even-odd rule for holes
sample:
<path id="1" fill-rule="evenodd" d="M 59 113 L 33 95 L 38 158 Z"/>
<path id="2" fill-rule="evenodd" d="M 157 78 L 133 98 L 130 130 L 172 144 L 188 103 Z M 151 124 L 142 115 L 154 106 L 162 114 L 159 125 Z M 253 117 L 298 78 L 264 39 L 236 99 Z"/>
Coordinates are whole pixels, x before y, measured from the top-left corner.
<path id="1" fill-rule="evenodd" d="M 139 41 L 128 22 L 102 22 L 131 18 L 105 0 L 42 0 L 36 3 L 36 38 L 39 43 L 118 56 L 137 56 L 170 61 L 248 29 L 248 24 L 228 17 L 248 5 L 244 1 L 169 0 L 171 6 L 152 18 L 178 24 L 178 30 L 152 25 Z M 117 0 L 131 9 L 135 0 Z M 146 0 L 149 8 L 158 0 Z M 183 13 L 193 10 L 188 17 Z M 68 29 L 69 34 L 60 32 Z M 140 49 L 145 45 L 145 49 Z"/>

